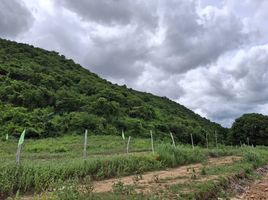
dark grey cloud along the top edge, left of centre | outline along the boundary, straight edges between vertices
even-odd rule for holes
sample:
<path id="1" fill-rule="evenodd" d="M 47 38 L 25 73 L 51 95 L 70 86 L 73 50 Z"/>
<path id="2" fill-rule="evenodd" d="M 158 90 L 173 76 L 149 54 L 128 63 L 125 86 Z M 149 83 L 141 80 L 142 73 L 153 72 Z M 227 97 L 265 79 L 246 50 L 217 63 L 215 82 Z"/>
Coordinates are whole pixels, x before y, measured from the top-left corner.
<path id="1" fill-rule="evenodd" d="M 104 25 L 130 23 L 155 25 L 156 15 L 148 12 L 154 4 L 142 0 L 62 0 L 62 5 L 76 12 L 84 20 L 95 21 Z"/>

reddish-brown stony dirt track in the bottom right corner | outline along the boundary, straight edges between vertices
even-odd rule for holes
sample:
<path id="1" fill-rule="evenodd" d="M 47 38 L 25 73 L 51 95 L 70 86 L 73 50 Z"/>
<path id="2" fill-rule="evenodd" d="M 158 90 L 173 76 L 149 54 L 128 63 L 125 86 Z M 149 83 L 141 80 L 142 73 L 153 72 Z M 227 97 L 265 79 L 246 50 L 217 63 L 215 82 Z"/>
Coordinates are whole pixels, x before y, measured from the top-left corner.
<path id="1" fill-rule="evenodd" d="M 246 192 L 231 200 L 268 200 L 268 173 L 261 180 L 255 181 L 246 188 Z"/>

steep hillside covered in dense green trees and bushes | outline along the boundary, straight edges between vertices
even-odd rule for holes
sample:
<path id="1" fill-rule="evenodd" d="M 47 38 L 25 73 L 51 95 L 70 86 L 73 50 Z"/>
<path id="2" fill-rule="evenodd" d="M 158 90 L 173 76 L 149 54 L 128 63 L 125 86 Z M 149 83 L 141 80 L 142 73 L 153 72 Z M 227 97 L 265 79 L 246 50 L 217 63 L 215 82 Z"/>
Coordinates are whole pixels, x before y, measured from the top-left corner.
<path id="1" fill-rule="evenodd" d="M 83 133 L 220 139 L 226 130 L 165 97 L 112 84 L 54 51 L 0 39 L 0 135 Z"/>

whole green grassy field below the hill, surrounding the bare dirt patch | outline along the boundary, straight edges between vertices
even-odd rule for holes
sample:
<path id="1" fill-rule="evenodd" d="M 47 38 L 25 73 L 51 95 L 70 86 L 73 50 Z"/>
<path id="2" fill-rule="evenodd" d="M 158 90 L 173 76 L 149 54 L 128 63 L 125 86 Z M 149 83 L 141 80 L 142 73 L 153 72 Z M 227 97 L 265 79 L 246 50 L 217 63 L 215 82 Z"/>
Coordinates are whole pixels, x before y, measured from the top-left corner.
<path id="1" fill-rule="evenodd" d="M 65 136 L 41 140 L 26 140 L 22 150 L 21 164 L 16 166 L 15 153 L 17 141 L 0 142 L 0 199 L 20 195 L 42 193 L 43 199 L 168 199 L 180 190 L 180 199 L 195 199 L 210 191 L 226 177 L 246 172 L 251 173 L 257 166 L 268 161 L 264 147 L 201 148 L 177 145 L 171 142 L 155 141 L 155 153 L 151 152 L 150 139 L 133 138 L 130 152 L 126 154 L 125 142 L 116 136 L 89 136 L 88 157 L 83 159 L 83 137 Z M 232 165 L 206 166 L 210 157 L 228 155 L 241 156 Z M 191 178 L 187 184 L 173 184 L 161 194 L 141 194 L 135 185 L 117 183 L 113 192 L 92 192 L 92 182 L 130 174 L 141 175 L 147 171 L 177 167 L 191 163 L 203 163 L 202 171 Z M 216 180 L 200 183 L 202 176 L 217 176 Z M 81 185 L 85 188 L 81 190 Z M 63 187 L 64 186 L 64 187 Z M 64 188 L 64 189 L 63 189 Z M 215 188 L 214 188 L 215 190 Z M 45 197 L 46 194 L 48 197 Z"/>

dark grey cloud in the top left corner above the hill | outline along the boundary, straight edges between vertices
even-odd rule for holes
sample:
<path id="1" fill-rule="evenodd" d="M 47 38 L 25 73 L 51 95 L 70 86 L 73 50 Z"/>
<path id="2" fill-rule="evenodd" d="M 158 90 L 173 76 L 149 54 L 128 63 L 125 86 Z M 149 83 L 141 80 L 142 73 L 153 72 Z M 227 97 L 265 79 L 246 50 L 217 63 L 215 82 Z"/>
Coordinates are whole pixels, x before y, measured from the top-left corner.
<path id="1" fill-rule="evenodd" d="M 33 21 L 30 11 L 18 0 L 0 1 L 0 36 L 16 37 Z"/>

